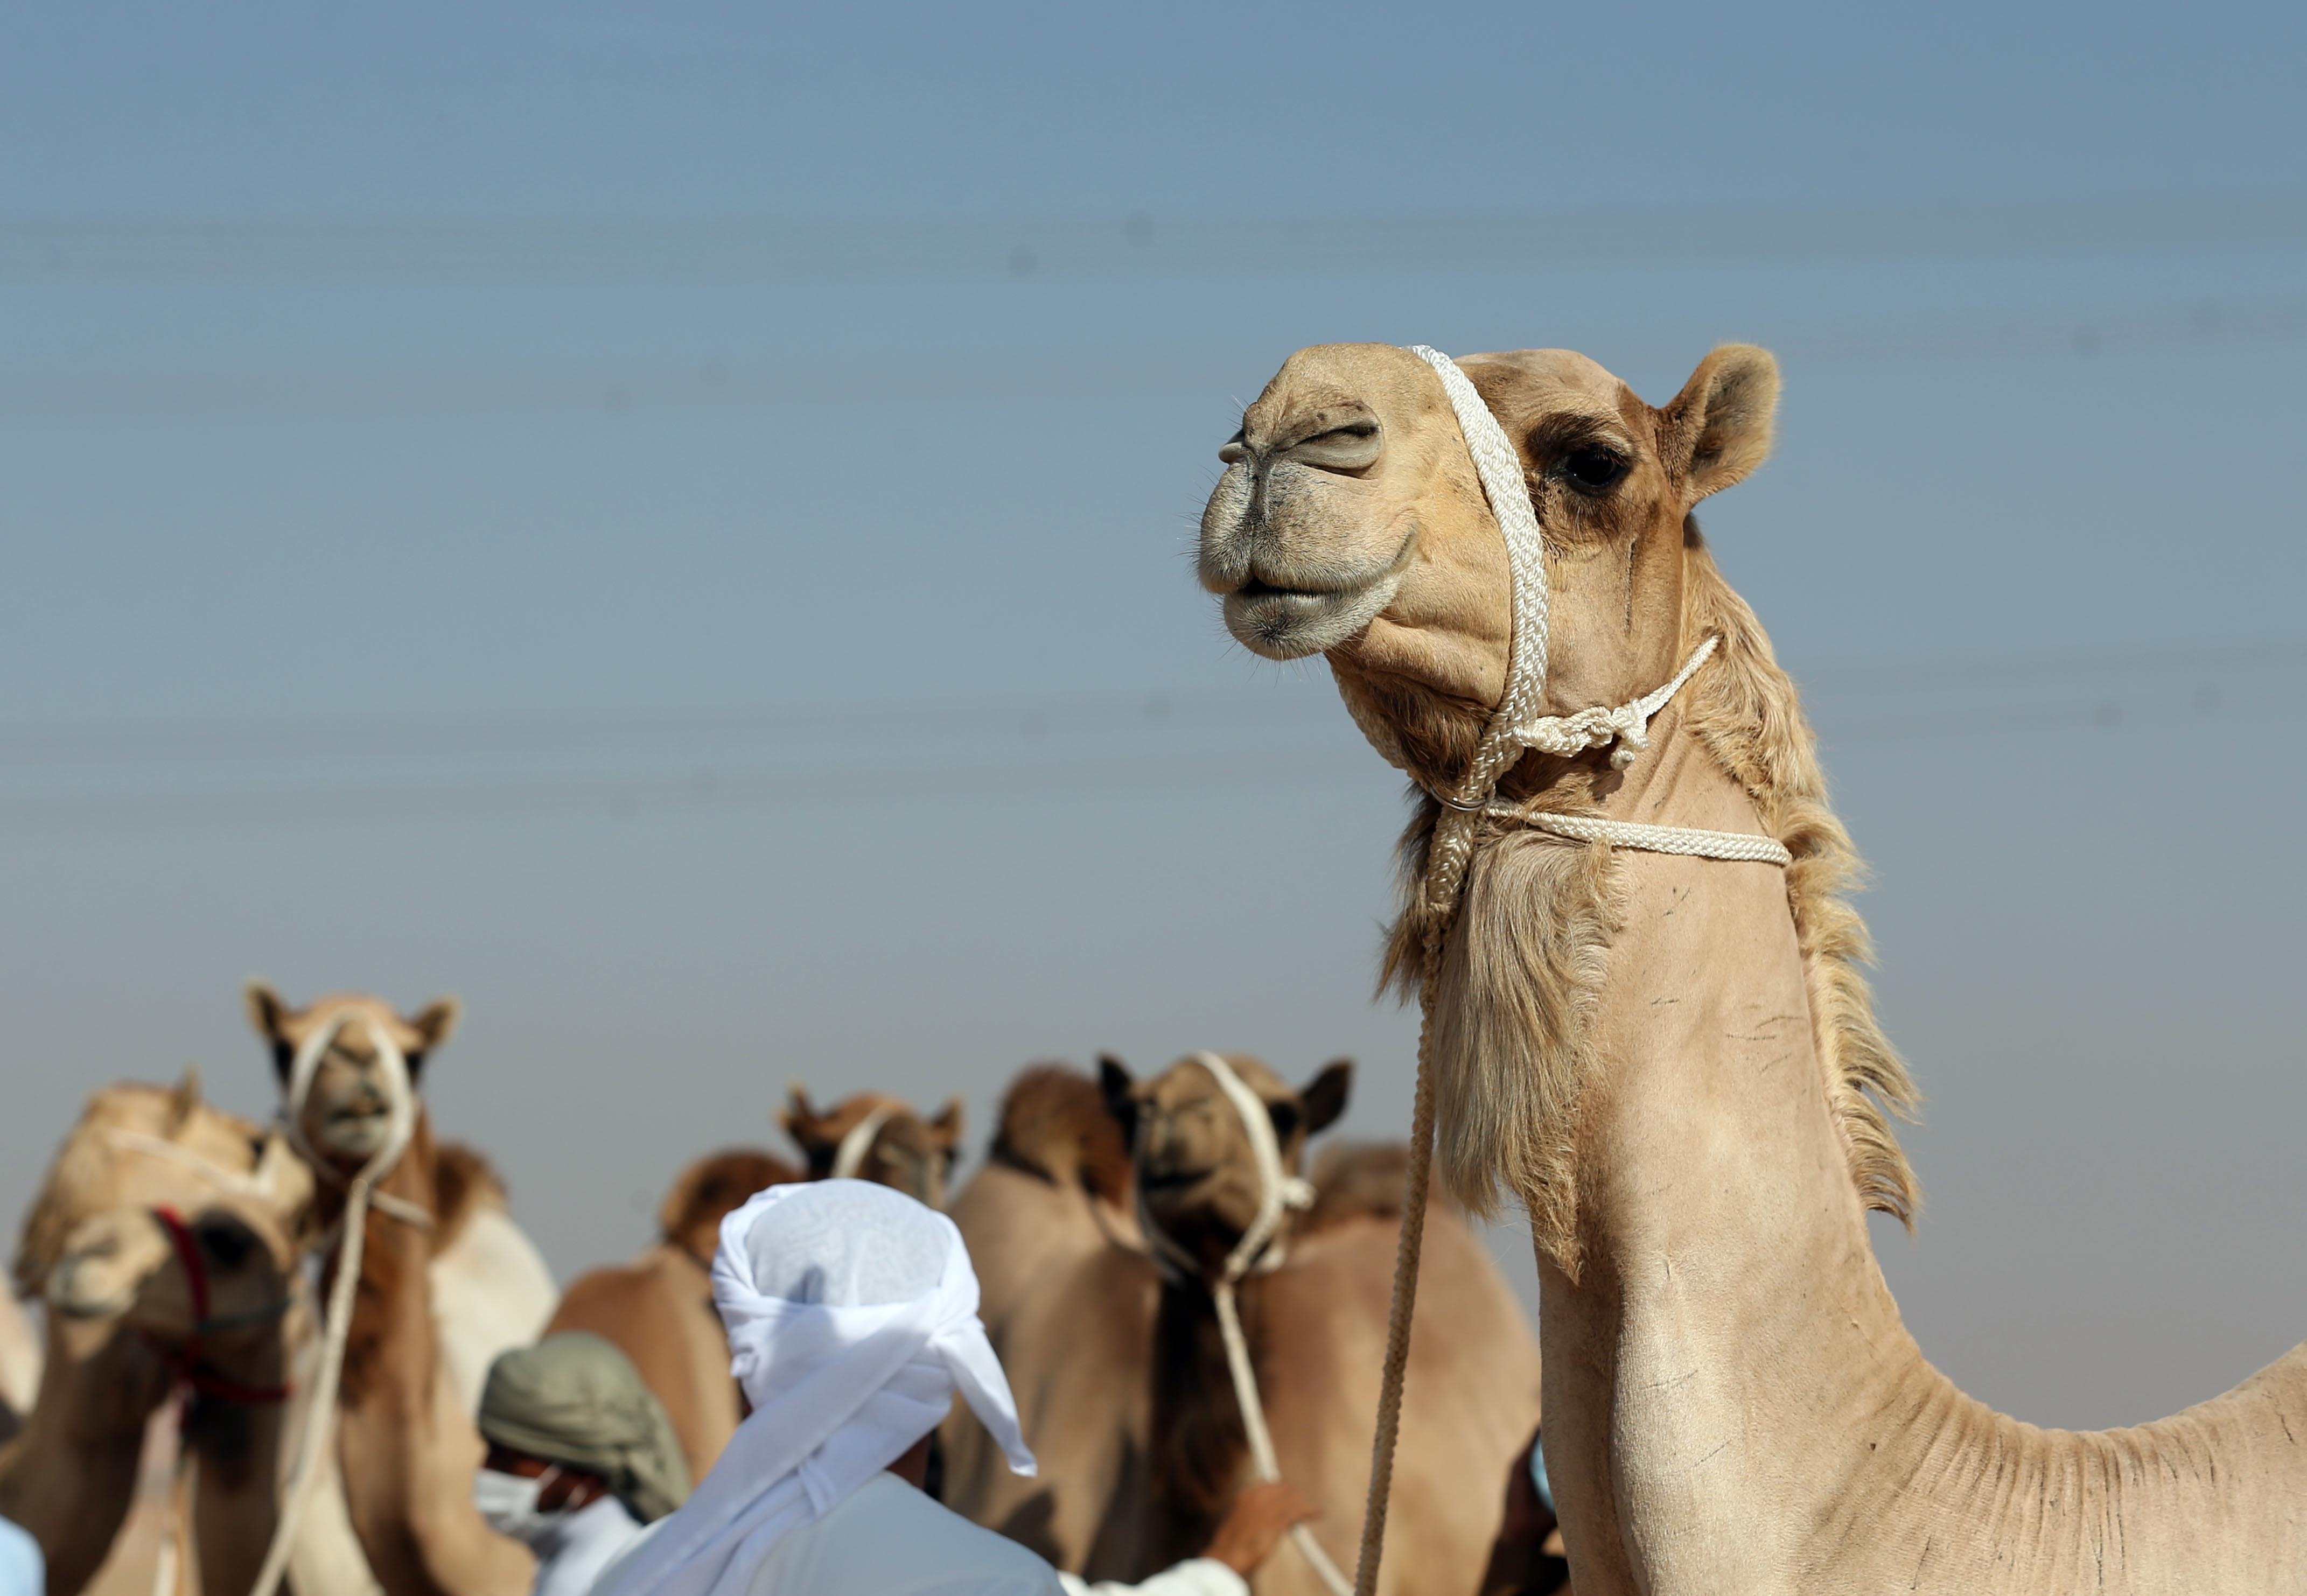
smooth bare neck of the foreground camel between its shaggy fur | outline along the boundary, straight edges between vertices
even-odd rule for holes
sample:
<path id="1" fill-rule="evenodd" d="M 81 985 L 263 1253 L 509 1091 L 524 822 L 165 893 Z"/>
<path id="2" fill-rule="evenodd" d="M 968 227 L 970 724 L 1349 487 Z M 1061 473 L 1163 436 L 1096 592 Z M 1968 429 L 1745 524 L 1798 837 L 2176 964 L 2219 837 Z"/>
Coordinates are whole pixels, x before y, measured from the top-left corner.
<path id="1" fill-rule="evenodd" d="M 1603 803 L 1760 830 L 1679 715 Z M 1779 867 L 1617 851 L 1580 1105 L 1578 1285 L 1541 1259 L 1546 1439 L 1580 1589 L 1781 1589 L 1816 1435 L 1924 1372 L 1834 1121 Z M 1583 1370 L 1608 1370 L 1601 1384 Z M 1573 1372 L 1578 1370 L 1578 1372 Z M 1608 1582 L 1601 1589 L 1610 1589 Z"/>

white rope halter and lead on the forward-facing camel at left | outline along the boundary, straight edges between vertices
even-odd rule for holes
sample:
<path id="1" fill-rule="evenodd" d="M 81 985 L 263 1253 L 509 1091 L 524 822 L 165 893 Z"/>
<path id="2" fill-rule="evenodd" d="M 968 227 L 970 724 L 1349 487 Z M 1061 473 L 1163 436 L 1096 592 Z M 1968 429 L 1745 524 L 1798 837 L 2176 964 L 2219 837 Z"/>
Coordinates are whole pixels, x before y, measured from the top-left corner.
<path id="1" fill-rule="evenodd" d="M 305 1137 L 305 1098 L 311 1096 L 321 1056 L 337 1040 L 337 1033 L 344 1031 L 346 1022 L 351 1022 L 351 1015 L 341 1015 L 305 1038 L 305 1045 L 295 1052 L 295 1061 L 288 1066 L 288 1098 L 281 1105 L 281 1119 L 286 1121 L 288 1142 L 305 1153 L 314 1172 L 325 1172 L 330 1165 Z M 408 1151 L 411 1137 L 415 1137 L 418 1098 L 408 1084 L 408 1059 L 401 1056 L 401 1049 L 394 1047 L 381 1026 L 371 1026 L 371 1031 L 376 1036 L 376 1061 L 385 1072 L 385 1139 L 344 1188 L 344 1220 L 339 1222 L 344 1241 L 337 1250 L 337 1278 L 330 1282 L 328 1317 L 321 1331 L 321 1372 L 314 1379 L 305 1411 L 305 1439 L 298 1446 L 295 1474 L 288 1481 L 288 1490 L 281 1492 L 281 1513 L 272 1527 L 272 1545 L 265 1548 L 265 1561 L 256 1571 L 256 1584 L 249 1589 L 249 1596 L 275 1596 L 281 1578 L 288 1573 L 288 1552 L 295 1548 L 298 1522 L 305 1518 L 305 1504 L 311 1499 L 314 1481 L 321 1476 L 321 1458 L 328 1455 L 332 1441 L 337 1382 L 344 1377 L 344 1340 L 353 1328 L 353 1289 L 360 1285 L 360 1252 L 367 1241 L 369 1206 L 374 1204 L 378 1213 L 406 1222 L 422 1220 L 424 1227 L 431 1227 L 431 1215 L 424 1209 L 399 1199 L 388 1202 L 390 1195 L 376 1190 L 376 1183 L 392 1174 L 401 1153 Z"/>

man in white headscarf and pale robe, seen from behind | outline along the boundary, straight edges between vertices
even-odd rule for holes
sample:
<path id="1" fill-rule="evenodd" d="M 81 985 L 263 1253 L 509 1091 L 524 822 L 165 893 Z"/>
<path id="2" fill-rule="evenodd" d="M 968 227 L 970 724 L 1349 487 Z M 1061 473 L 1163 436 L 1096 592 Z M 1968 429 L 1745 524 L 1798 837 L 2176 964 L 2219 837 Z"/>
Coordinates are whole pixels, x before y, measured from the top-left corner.
<path id="1" fill-rule="evenodd" d="M 1061 1596 L 1084 1587 L 920 1490 L 960 1393 L 1017 1474 L 1034 1453 L 944 1213 L 865 1181 L 773 1185 L 722 1220 L 713 1301 L 752 1402 L 713 1471 L 593 1596 Z M 1308 1515 L 1262 1488 L 1213 1552 L 1135 1587 L 1248 1596 Z M 1121 1596 L 1119 1587 L 1096 1587 Z"/>

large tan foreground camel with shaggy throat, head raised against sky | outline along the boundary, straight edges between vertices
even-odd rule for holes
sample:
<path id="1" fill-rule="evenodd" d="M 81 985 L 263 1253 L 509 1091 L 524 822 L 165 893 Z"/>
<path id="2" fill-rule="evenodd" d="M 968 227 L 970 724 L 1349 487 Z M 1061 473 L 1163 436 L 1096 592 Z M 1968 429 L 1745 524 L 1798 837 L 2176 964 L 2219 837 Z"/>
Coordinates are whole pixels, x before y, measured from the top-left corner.
<path id="1" fill-rule="evenodd" d="M 1913 1089 L 1855 969 L 1857 858 L 1795 687 L 1691 517 L 1767 454 L 1772 357 L 1721 348 L 1656 411 L 1564 351 L 1458 364 L 1543 528 L 1543 713 L 1626 703 L 1719 639 L 1629 768 L 1530 754 L 1502 798 L 1776 837 L 1795 860 L 1476 835 L 1433 1015 L 1437 1169 L 1476 1209 L 1500 1185 L 1530 1206 L 1580 1596 L 2307 1589 L 2307 1345 L 2176 1418 L 2074 1435 L 1972 1402 L 1899 1322 L 1864 1213 L 1913 1211 L 1885 1119 Z M 1513 609 L 1437 374 L 1400 348 L 1301 351 L 1223 459 L 1202 581 L 1227 627 L 1276 660 L 1327 653 L 1373 743 L 1449 791 Z M 1403 987 L 1423 980 L 1435 819 L 1428 798 L 1405 837 Z M 1412 1377 L 1407 1411 L 1423 1400 Z"/>

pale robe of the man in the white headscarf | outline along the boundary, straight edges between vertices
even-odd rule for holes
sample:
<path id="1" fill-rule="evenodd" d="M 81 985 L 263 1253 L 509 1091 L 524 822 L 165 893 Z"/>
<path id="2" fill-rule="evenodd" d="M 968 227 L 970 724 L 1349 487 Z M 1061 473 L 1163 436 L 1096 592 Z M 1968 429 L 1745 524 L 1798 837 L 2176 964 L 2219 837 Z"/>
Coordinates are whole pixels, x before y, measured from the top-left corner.
<path id="1" fill-rule="evenodd" d="M 651 1527 L 655 1529 L 655 1527 Z M 644 1531 L 646 1536 L 646 1531 Z M 787 1531 L 745 1596 L 1248 1596 L 1207 1557 L 1144 1584 L 1089 1584 L 978 1529 L 895 1474 L 861 1485 L 814 1525 Z"/>

